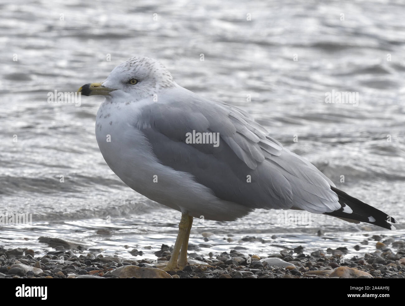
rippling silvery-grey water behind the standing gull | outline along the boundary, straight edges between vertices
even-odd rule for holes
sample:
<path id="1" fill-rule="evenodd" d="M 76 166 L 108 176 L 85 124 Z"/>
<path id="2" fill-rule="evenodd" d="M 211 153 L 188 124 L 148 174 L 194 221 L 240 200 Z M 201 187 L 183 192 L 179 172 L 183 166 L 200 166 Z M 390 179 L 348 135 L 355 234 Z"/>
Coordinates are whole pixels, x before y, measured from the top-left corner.
<path id="1" fill-rule="evenodd" d="M 32 213 L 33 225 L 1 226 L 0 244 L 46 252 L 37 238 L 56 236 L 103 254 L 130 258 L 136 248 L 154 258 L 162 243 L 174 243 L 179 212 L 126 187 L 98 150 L 102 98 L 82 98 L 80 107 L 47 102 L 49 92 L 102 81 L 134 55 L 159 59 L 179 85 L 201 96 L 244 108 L 338 188 L 401 221 L 404 13 L 401 2 L 380 1 L 2 2 L 0 211 Z M 325 103 L 333 90 L 358 92 L 358 106 Z M 347 246 L 349 255 L 361 255 L 374 249 L 354 251 L 364 235 L 405 237 L 401 224 L 389 232 L 307 214 L 305 226 L 282 223 L 279 213 L 256 210 L 232 223 L 196 220 L 190 243 L 211 246 L 190 252 L 239 246 L 241 253 L 268 255 L 303 245 L 305 251 Z M 319 229 L 325 236 L 316 235 Z M 204 242 L 202 232 L 214 235 Z M 241 240 L 246 236 L 258 240 Z"/>

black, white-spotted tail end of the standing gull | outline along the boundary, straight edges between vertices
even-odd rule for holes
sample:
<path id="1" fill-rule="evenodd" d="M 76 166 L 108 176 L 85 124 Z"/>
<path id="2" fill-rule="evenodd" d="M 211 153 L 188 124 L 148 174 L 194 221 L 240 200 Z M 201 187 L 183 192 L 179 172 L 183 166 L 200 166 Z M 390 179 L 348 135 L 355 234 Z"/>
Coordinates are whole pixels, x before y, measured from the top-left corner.
<path id="1" fill-rule="evenodd" d="M 324 215 L 330 215 L 354 223 L 360 223 L 359 221 L 361 221 L 378 225 L 386 229 L 395 229 L 390 223 L 398 222 L 386 213 L 353 198 L 336 187 L 330 187 L 330 189 L 338 195 L 341 208 L 333 212 L 325 212 Z"/>

